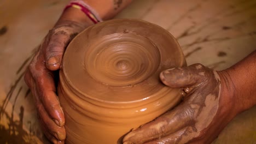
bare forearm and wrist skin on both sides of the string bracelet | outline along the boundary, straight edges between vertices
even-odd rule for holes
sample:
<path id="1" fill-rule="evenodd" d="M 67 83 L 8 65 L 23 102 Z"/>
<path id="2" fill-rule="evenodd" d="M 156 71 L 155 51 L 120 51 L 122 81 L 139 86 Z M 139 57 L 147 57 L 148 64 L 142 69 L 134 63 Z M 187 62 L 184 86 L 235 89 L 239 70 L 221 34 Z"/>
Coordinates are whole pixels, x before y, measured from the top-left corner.
<path id="1" fill-rule="evenodd" d="M 94 9 L 102 20 L 109 20 L 115 15 L 117 15 L 121 10 L 123 10 L 127 5 L 131 3 L 132 0 L 84 0 L 84 2 L 92 9 Z M 93 25 L 94 23 L 87 17 L 81 10 L 76 8 L 68 8 L 63 11 L 60 19 L 57 21 L 56 25 L 62 23 L 63 21 L 75 21 L 79 23 L 84 23 L 85 26 Z"/>

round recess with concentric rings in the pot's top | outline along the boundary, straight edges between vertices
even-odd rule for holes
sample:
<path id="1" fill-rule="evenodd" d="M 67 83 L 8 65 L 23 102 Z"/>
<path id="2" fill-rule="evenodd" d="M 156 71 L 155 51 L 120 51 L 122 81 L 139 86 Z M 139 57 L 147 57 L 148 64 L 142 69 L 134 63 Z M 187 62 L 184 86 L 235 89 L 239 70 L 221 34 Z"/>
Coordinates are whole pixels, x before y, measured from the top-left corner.
<path id="1" fill-rule="evenodd" d="M 136 85 L 159 67 L 158 48 L 140 35 L 111 34 L 97 41 L 88 47 L 84 61 L 89 75 L 104 85 Z"/>

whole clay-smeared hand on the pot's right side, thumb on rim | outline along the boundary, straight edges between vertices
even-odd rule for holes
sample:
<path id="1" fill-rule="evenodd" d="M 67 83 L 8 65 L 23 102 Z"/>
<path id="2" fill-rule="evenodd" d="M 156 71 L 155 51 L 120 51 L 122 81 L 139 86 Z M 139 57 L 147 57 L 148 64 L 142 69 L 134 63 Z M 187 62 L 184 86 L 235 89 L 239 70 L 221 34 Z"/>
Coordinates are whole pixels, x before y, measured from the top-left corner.
<path id="1" fill-rule="evenodd" d="M 181 104 L 127 134 L 127 143 L 211 143 L 234 115 L 222 72 L 201 64 L 165 70 L 162 82 L 184 88 Z"/>

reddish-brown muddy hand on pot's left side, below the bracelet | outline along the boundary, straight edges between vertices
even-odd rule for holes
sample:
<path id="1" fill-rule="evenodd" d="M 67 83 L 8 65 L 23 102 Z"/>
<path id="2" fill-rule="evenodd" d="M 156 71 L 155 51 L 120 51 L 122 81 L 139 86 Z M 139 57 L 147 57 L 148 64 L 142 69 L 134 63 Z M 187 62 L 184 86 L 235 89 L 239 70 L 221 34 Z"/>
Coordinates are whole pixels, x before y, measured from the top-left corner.
<path id="1" fill-rule="evenodd" d="M 69 41 L 84 28 L 74 21 L 57 24 L 44 38 L 25 74 L 44 134 L 53 143 L 63 143 L 66 139 L 65 117 L 56 95 L 55 70 L 60 68 Z"/>

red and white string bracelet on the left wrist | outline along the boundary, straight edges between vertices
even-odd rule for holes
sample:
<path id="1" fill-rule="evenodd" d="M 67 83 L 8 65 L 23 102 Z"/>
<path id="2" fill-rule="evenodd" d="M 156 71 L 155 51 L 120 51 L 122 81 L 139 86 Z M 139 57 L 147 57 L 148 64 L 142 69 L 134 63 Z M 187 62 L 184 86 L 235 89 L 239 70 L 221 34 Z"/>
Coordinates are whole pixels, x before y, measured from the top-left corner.
<path id="1" fill-rule="evenodd" d="M 82 0 L 72 0 L 64 9 L 64 11 L 68 8 L 77 8 L 80 9 L 81 11 L 83 11 L 86 16 L 89 17 L 89 19 L 94 22 L 94 23 L 98 23 L 101 22 L 102 19 L 100 18 L 100 16 L 98 16 L 98 14 L 96 13 L 96 11 L 91 8 L 88 4 L 86 4 L 84 1 Z"/>

